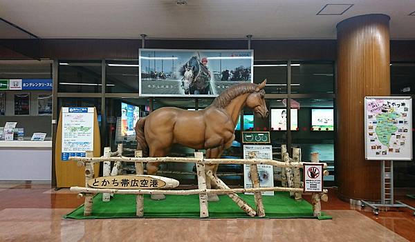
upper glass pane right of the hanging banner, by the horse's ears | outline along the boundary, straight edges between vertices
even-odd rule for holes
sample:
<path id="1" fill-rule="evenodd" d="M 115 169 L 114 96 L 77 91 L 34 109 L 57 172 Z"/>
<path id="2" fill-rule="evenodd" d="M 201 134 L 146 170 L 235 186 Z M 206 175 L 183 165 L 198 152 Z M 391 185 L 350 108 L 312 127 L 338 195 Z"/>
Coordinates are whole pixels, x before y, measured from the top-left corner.
<path id="1" fill-rule="evenodd" d="M 254 83 L 261 83 L 264 79 L 267 79 L 267 94 L 287 93 L 287 62 L 255 61 Z"/>

